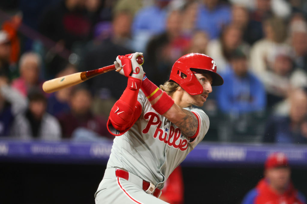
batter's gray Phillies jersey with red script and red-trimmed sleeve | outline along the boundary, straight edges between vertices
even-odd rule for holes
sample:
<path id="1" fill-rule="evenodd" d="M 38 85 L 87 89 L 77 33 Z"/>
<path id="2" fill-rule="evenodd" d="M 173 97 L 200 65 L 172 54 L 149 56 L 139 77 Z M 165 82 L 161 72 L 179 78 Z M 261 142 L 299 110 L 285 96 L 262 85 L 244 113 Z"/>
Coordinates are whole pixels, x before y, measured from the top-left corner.
<path id="1" fill-rule="evenodd" d="M 168 176 L 204 138 L 209 118 L 201 109 L 184 108 L 198 119 L 197 136 L 189 141 L 175 124 L 151 107 L 141 90 L 138 102 L 142 106 L 141 116 L 129 131 L 115 137 L 107 169 L 126 170 L 162 189 Z"/>

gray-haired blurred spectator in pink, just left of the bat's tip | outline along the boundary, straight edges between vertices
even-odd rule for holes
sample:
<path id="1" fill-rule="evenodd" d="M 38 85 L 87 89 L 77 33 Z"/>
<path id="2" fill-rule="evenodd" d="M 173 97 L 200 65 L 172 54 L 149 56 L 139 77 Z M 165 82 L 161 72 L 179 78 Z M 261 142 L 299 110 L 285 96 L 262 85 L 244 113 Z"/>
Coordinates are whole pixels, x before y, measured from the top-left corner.
<path id="1" fill-rule="evenodd" d="M 19 61 L 20 77 L 12 81 L 12 87 L 24 96 L 27 96 L 28 91 L 33 87 L 43 90 L 43 82 L 39 79 L 40 69 L 41 58 L 38 54 L 33 52 L 22 54 Z"/>

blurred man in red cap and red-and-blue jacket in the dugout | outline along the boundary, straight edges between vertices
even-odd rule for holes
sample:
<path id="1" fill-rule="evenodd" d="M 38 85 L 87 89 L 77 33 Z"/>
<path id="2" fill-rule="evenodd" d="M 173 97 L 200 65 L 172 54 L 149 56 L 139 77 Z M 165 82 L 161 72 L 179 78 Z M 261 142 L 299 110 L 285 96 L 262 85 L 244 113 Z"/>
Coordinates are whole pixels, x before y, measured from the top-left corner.
<path id="1" fill-rule="evenodd" d="M 283 153 L 270 154 L 265 162 L 264 178 L 249 191 L 242 204 L 303 204 L 306 198 L 290 179 L 288 159 Z"/>

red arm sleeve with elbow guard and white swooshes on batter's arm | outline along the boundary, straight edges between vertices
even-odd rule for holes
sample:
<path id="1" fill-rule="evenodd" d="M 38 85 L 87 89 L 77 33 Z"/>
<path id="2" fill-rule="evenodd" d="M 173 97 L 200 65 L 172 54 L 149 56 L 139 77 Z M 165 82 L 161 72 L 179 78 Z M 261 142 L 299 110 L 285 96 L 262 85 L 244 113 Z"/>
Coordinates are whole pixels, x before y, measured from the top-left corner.
<path id="1" fill-rule="evenodd" d="M 108 131 L 112 135 L 118 136 L 124 134 L 140 117 L 142 106 L 137 101 L 139 88 L 134 89 L 134 87 L 140 87 L 141 84 L 138 83 L 141 82 L 133 78 L 128 78 L 128 85 L 125 91 L 112 107 L 107 122 Z"/>

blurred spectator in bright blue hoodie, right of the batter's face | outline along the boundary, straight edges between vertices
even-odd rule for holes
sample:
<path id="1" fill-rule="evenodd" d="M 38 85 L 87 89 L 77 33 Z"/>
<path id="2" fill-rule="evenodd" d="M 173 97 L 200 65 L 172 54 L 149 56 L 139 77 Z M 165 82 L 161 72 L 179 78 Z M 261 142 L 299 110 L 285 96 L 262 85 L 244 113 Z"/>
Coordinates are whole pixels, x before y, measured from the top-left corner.
<path id="1" fill-rule="evenodd" d="M 216 93 L 220 111 L 216 134 L 221 141 L 259 142 L 266 110 L 264 86 L 249 71 L 242 50 L 234 51 L 230 65 L 230 70 L 222 75 L 224 84 Z"/>

